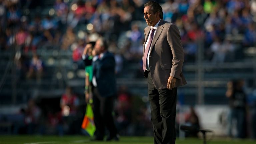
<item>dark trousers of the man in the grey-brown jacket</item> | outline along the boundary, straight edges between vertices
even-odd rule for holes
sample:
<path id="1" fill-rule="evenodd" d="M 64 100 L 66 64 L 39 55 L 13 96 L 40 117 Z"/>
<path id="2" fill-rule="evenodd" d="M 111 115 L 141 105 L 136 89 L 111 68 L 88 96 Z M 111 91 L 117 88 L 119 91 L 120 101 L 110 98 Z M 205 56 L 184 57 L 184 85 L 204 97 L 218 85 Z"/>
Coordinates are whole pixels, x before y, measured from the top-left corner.
<path id="1" fill-rule="evenodd" d="M 148 95 L 154 129 L 154 144 L 175 144 L 177 88 L 156 89 L 149 73 Z"/>

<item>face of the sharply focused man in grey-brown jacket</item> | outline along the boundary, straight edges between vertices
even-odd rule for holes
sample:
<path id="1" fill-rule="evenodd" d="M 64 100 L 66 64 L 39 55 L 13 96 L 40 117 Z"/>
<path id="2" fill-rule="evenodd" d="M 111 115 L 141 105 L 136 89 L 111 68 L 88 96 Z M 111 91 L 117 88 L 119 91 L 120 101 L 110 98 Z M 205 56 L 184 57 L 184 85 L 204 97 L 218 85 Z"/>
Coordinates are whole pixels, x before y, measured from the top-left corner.
<path id="1" fill-rule="evenodd" d="M 159 21 L 159 12 L 154 12 L 151 10 L 151 6 L 146 6 L 144 8 L 144 19 L 149 26 L 155 26 Z"/>

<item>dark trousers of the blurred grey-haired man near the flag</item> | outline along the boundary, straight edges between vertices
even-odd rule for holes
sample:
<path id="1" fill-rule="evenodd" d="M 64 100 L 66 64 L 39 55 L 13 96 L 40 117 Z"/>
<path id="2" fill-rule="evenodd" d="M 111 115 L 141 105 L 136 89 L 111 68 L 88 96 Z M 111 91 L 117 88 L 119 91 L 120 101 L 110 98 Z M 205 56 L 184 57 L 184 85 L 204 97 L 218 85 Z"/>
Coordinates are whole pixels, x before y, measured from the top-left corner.
<path id="1" fill-rule="evenodd" d="M 117 134 L 112 116 L 113 101 L 113 96 L 102 97 L 97 87 L 93 88 L 93 114 L 98 139 L 104 138 L 105 127 L 109 130 L 110 137 Z"/>

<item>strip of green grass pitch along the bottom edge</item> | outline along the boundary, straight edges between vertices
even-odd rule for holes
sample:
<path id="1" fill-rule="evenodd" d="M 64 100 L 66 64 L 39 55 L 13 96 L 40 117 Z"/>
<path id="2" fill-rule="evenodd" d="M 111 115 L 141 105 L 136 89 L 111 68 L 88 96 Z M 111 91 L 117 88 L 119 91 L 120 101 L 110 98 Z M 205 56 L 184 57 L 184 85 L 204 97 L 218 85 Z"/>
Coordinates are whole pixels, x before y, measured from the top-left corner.
<path id="1" fill-rule="evenodd" d="M 0 144 L 153 144 L 153 137 L 129 137 L 121 136 L 120 141 L 112 142 L 91 142 L 86 136 L 34 136 L 34 135 L 1 135 Z M 207 144 L 255 144 L 252 140 L 226 140 L 213 139 Z M 203 144 L 202 139 L 176 140 L 176 144 Z"/>

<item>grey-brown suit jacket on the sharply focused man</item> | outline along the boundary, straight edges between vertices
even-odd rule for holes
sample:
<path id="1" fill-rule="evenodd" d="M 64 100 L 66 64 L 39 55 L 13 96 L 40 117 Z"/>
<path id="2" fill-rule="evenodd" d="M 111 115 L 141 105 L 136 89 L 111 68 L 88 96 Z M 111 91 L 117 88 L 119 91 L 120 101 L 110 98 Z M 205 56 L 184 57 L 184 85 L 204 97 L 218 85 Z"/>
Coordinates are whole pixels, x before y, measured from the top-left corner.
<path id="1" fill-rule="evenodd" d="M 144 29 L 143 55 L 150 29 L 151 26 Z M 157 89 L 167 88 L 169 76 L 177 78 L 175 87 L 185 85 L 187 82 L 182 74 L 184 51 L 177 26 L 161 19 L 155 31 L 151 49 L 149 71 L 155 87 Z M 145 71 L 144 76 L 146 78 L 147 75 L 148 72 Z"/>

